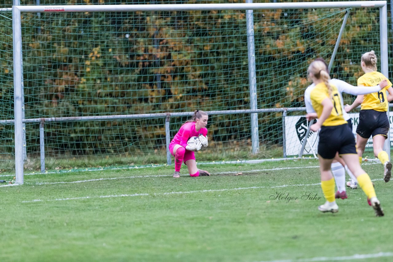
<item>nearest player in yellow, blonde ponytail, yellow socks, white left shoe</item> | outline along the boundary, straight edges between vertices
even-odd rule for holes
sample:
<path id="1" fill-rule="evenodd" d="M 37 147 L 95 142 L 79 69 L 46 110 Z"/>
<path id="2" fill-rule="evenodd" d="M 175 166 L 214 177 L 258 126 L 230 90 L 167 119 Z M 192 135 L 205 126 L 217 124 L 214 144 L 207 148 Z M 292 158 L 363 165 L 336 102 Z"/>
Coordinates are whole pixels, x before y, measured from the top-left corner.
<path id="1" fill-rule="evenodd" d="M 343 117 L 342 101 L 338 89 L 330 83 L 329 73 L 321 61 L 314 61 L 308 68 L 309 78 L 315 84 L 310 92 L 310 100 L 318 121 L 310 128 L 319 132 L 318 159 L 321 171 L 321 187 L 326 202 L 318 209 L 321 212 L 338 212 L 338 205 L 334 197 L 334 178 L 331 163 L 336 152 L 344 159 L 349 170 L 357 178 L 360 187 L 365 192 L 369 203 L 375 210 L 376 216 L 384 213 L 376 198 L 373 183 L 368 174 L 360 167 L 356 154 L 355 140 L 352 130 Z"/>

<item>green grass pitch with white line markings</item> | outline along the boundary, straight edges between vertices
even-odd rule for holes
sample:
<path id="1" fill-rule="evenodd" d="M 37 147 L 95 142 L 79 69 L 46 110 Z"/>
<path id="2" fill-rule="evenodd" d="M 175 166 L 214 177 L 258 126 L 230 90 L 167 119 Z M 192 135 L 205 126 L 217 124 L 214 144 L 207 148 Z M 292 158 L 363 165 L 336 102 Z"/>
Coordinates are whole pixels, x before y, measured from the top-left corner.
<path id="1" fill-rule="evenodd" d="M 0 187 L 0 261 L 391 261 L 393 181 L 382 181 L 382 165 L 363 165 L 380 218 L 361 189 L 338 200 L 338 213 L 320 213 L 317 166 L 201 165 L 212 176 L 198 178 L 183 166 L 178 179 L 173 165 L 25 176 Z"/>

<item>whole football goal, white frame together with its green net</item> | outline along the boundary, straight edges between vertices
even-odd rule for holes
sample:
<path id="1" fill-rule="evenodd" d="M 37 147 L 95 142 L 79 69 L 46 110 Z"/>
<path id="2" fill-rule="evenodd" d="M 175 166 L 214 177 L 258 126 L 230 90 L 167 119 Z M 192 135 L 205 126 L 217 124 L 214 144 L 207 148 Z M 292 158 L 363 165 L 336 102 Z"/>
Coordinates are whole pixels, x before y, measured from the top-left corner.
<path id="1" fill-rule="evenodd" d="M 23 183 L 27 165 L 24 140 L 27 155 L 41 158 L 40 172 L 55 163 L 45 159 L 48 148 L 53 156 L 67 158 L 70 169 L 80 165 L 73 159 L 78 155 L 118 157 L 134 167 L 155 161 L 147 157 L 151 154 L 159 161 L 154 163 L 169 164 L 168 141 L 195 109 L 211 113 L 214 162 L 277 158 L 271 152 L 285 143 L 283 112 L 303 106 L 307 64 L 318 55 L 330 58 L 338 30 L 328 34 L 329 19 L 331 30 L 339 28 L 349 8 L 379 9 L 379 39 L 372 41 L 379 42 L 380 69 L 388 76 L 386 1 L 14 5 L 16 183 Z M 285 11 L 300 9 L 324 12 Z M 133 15 L 116 17 L 122 13 Z M 340 62 L 349 64 L 358 59 L 351 55 L 363 51 L 340 55 Z M 90 137 L 83 138 L 83 132 Z M 208 162 L 208 154 L 198 157 Z M 137 158 L 141 161 L 135 164 Z M 97 168 L 105 167 L 101 162 Z"/>

